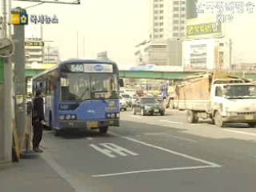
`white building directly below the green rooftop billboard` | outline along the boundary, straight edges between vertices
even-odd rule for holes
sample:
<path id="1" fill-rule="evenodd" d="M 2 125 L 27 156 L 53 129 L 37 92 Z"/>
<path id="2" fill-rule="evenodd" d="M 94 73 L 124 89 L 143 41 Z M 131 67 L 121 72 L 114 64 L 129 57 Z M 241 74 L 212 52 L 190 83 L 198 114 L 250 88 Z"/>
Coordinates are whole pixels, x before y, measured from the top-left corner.
<path id="1" fill-rule="evenodd" d="M 230 39 L 209 38 L 183 42 L 184 70 L 230 70 Z"/>

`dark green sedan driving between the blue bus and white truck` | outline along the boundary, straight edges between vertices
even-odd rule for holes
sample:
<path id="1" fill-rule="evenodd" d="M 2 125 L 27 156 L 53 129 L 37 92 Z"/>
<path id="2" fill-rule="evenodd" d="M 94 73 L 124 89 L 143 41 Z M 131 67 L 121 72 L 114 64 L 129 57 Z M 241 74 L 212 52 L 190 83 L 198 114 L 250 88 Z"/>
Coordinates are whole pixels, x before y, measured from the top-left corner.
<path id="1" fill-rule="evenodd" d="M 156 98 L 142 97 L 138 98 L 134 105 L 132 106 L 133 114 L 141 114 L 142 116 L 146 114 L 165 114 L 165 109 Z"/>

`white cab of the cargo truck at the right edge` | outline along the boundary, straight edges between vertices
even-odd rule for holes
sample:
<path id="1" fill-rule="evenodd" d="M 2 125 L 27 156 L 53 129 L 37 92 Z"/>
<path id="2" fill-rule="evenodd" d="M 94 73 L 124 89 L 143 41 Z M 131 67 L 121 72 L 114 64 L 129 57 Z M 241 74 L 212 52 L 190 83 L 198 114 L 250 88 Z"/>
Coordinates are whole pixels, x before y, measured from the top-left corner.
<path id="1" fill-rule="evenodd" d="M 217 126 L 222 127 L 226 122 L 256 126 L 256 86 L 247 82 L 214 81 L 208 113 Z"/>

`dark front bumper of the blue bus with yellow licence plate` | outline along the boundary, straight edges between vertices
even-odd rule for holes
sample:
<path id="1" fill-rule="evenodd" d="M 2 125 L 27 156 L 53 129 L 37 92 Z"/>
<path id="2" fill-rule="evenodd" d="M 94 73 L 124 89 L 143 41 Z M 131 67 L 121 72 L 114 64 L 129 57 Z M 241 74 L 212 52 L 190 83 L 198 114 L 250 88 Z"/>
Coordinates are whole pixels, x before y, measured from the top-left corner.
<path id="1" fill-rule="evenodd" d="M 104 119 L 92 121 L 60 121 L 60 129 L 97 129 L 106 126 L 119 126 L 119 119 Z"/>

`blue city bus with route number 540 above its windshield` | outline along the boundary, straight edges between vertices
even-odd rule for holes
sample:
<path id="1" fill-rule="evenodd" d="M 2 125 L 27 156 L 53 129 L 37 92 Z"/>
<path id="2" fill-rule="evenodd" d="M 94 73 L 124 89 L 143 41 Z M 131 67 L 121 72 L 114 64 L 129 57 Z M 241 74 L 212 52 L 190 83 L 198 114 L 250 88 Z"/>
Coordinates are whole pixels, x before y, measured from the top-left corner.
<path id="1" fill-rule="evenodd" d="M 118 66 L 110 61 L 74 59 L 61 62 L 33 78 L 33 91 L 42 90 L 46 126 L 57 136 L 63 130 L 119 126 Z"/>

